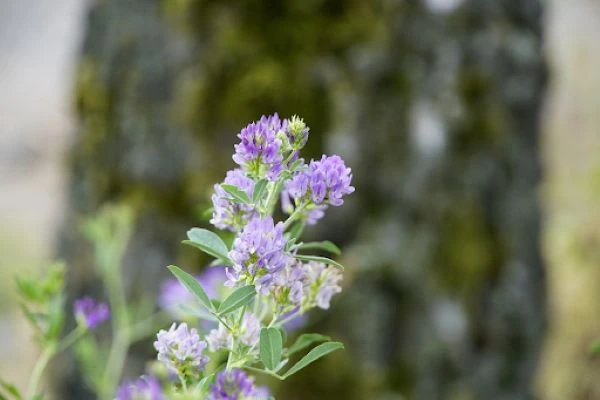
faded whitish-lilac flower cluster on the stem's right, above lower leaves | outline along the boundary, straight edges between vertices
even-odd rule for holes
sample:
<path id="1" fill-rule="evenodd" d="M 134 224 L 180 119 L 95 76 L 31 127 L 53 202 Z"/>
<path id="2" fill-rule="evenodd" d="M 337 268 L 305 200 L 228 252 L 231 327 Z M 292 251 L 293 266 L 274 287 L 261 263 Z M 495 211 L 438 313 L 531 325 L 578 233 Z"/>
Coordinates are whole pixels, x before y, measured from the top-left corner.
<path id="1" fill-rule="evenodd" d="M 281 285 L 272 288 L 283 304 L 294 304 L 304 312 L 312 307 L 329 308 L 331 298 L 342 291 L 342 274 L 323 263 L 297 261 L 281 273 Z"/>

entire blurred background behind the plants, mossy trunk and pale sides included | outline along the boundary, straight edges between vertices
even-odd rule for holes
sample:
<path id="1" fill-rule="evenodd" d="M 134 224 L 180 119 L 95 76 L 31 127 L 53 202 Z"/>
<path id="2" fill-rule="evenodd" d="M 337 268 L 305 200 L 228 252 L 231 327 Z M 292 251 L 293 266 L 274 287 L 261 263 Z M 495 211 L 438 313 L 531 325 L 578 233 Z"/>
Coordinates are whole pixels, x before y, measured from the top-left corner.
<path id="1" fill-rule="evenodd" d="M 97 292 L 79 227 L 114 202 L 131 298 L 201 269 L 179 242 L 277 111 L 357 188 L 307 232 L 345 250 L 310 330 L 346 350 L 278 399 L 600 399 L 598 37 L 597 0 L 2 0 L 0 376 L 36 356 L 16 272 Z"/>

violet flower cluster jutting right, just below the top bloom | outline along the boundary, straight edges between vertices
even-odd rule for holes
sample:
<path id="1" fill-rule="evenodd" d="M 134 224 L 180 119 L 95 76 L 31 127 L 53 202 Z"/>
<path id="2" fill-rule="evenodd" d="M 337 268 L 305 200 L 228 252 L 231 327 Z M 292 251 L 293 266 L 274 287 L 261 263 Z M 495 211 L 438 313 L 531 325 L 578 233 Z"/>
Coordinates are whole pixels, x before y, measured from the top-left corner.
<path id="1" fill-rule="evenodd" d="M 286 193 L 298 206 L 303 201 L 316 205 L 341 206 L 343 197 L 354 192 L 352 171 L 339 156 L 323 155 L 312 160 L 308 169 L 298 172 L 286 185 Z"/>

